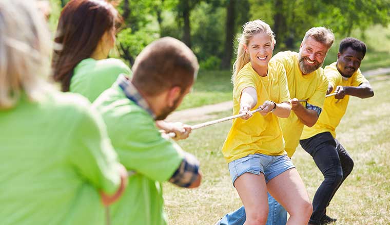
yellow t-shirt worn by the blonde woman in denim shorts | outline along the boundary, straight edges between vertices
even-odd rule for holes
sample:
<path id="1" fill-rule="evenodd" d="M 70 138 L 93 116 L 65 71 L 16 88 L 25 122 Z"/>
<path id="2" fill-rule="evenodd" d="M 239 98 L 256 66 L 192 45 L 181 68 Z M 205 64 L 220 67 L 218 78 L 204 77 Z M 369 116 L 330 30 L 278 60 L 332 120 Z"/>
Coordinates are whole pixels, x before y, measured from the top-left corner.
<path id="1" fill-rule="evenodd" d="M 240 98 L 245 87 L 254 87 L 257 92 L 258 108 L 266 100 L 281 103 L 289 100 L 286 72 L 278 62 L 268 63 L 268 75 L 261 77 L 248 62 L 238 73 L 233 83 L 233 114 L 240 111 Z M 248 120 L 233 120 L 227 138 L 222 147 L 226 162 L 243 158 L 246 155 L 261 153 L 283 155 L 284 140 L 278 118 L 269 113 L 262 116 L 253 114 Z"/>

